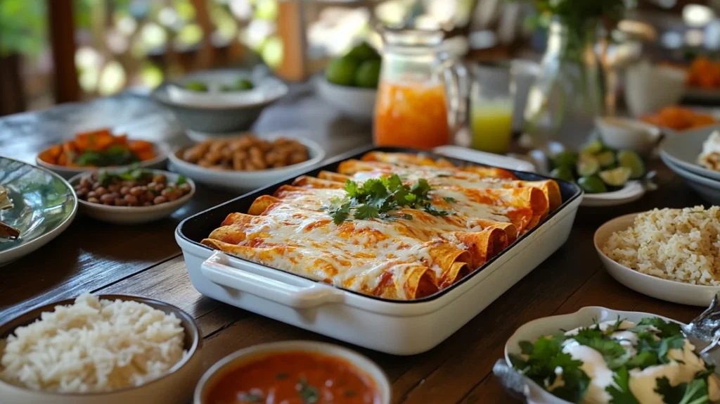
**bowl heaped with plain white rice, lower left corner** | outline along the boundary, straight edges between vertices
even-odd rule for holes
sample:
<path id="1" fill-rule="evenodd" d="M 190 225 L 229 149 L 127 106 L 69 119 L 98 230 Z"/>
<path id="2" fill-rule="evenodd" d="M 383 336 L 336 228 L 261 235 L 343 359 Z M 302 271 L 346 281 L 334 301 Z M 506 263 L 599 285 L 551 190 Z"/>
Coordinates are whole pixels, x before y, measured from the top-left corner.
<path id="1" fill-rule="evenodd" d="M 0 402 L 176 404 L 202 374 L 202 338 L 183 310 L 80 295 L 0 326 Z"/>

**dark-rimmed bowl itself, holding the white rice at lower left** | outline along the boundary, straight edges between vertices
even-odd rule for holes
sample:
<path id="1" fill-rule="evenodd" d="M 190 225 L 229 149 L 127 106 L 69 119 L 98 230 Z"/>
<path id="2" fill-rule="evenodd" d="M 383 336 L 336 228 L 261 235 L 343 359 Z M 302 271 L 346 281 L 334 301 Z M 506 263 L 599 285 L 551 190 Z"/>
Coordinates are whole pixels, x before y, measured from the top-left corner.
<path id="1" fill-rule="evenodd" d="M 108 300 L 135 300 L 163 310 L 165 313 L 174 313 L 181 320 L 182 327 L 185 329 L 186 356 L 170 369 L 168 374 L 159 379 L 138 387 L 128 387 L 110 392 L 89 394 L 42 392 L 10 385 L 0 380 L 0 402 L 8 404 L 177 404 L 188 402 L 192 397 L 194 385 L 202 374 L 202 337 L 192 316 L 159 300 L 126 295 L 99 295 L 99 297 Z M 71 305 L 74 301 L 71 299 L 54 302 L 19 315 L 0 326 L 0 338 L 6 338 L 19 326 L 34 322 L 40 318 L 41 313 L 52 311 L 56 305 Z"/>

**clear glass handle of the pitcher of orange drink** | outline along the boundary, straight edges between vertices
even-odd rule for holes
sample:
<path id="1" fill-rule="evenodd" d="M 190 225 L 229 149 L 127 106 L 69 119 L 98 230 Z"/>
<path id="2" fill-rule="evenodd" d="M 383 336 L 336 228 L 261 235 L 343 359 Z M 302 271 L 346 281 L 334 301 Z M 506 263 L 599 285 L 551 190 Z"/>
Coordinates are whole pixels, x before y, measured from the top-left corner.
<path id="1" fill-rule="evenodd" d="M 448 98 L 448 127 L 450 133 L 455 135 L 467 120 L 469 76 L 465 65 L 456 59 L 443 58 L 439 68 L 445 80 Z"/>

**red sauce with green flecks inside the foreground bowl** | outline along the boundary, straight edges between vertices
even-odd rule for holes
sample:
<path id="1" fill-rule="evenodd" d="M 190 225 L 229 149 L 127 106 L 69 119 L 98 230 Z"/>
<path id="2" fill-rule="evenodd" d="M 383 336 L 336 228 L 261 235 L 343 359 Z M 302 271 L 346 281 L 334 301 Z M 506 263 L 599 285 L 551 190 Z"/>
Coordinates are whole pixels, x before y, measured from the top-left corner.
<path id="1" fill-rule="evenodd" d="M 207 404 L 380 404 L 374 381 L 353 364 L 310 352 L 281 352 L 225 372 Z"/>

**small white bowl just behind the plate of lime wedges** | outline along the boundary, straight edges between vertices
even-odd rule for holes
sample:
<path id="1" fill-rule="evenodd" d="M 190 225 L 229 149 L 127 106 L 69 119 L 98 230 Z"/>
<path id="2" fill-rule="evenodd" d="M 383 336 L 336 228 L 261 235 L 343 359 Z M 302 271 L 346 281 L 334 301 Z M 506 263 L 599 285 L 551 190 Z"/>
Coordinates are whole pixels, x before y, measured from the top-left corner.
<path id="1" fill-rule="evenodd" d="M 622 117 L 598 117 L 595 126 L 609 148 L 649 153 L 660 140 L 660 129 L 640 120 Z"/>

